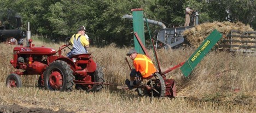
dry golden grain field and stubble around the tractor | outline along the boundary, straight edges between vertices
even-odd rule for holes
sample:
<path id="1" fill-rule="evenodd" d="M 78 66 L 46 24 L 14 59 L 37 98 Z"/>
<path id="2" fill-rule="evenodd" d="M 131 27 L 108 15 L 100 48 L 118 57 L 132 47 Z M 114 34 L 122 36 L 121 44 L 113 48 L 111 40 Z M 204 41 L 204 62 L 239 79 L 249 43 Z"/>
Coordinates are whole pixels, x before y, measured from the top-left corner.
<path id="1" fill-rule="evenodd" d="M 34 44 L 55 50 L 60 46 L 40 41 Z M 0 44 L 0 105 L 75 112 L 256 112 L 256 57 L 212 51 L 189 78 L 184 78 L 179 69 L 167 73 L 168 78 L 176 80 L 177 98 L 154 98 L 150 102 L 149 98 L 139 98 L 135 92 L 117 90 L 114 86 L 106 86 L 95 93 L 46 91 L 37 87 L 38 75 L 22 76 L 22 88 L 7 88 L 5 79 L 14 71 L 9 63 L 13 47 Z M 102 66 L 106 82 L 125 86 L 130 72 L 124 58 L 129 49 L 114 45 L 89 49 L 94 60 Z M 161 69 L 187 60 L 194 51 L 189 47 L 169 51 L 158 49 Z M 153 51 L 149 53 L 153 57 Z"/>

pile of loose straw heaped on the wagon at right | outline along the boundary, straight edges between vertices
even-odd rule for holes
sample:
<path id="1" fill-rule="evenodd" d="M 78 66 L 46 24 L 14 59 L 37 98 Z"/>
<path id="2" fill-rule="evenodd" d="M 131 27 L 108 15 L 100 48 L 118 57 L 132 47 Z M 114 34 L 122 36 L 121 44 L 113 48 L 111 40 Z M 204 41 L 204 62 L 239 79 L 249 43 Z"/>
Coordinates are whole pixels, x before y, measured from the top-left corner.
<path id="1" fill-rule="evenodd" d="M 189 44 L 193 47 L 199 47 L 203 40 L 205 40 L 208 35 L 212 33 L 214 29 L 217 29 L 222 33 L 223 38 L 227 38 L 226 35 L 230 33 L 231 30 L 237 30 L 240 32 L 253 31 L 249 26 L 246 26 L 242 22 L 232 23 L 232 22 L 207 22 L 197 25 L 191 29 L 183 32 L 184 38 L 188 40 Z M 250 34 L 255 35 L 255 34 Z M 243 40 L 241 38 L 236 38 L 237 40 Z M 255 39 L 250 39 L 255 40 Z M 238 43 L 237 45 L 241 45 Z M 253 45 L 253 44 L 251 44 Z"/>

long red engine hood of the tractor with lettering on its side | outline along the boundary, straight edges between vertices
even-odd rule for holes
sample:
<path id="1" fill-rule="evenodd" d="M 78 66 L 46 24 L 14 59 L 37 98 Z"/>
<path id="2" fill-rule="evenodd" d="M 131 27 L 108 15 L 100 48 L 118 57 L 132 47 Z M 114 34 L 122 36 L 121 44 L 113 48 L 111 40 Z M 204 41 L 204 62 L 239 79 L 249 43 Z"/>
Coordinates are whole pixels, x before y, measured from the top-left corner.
<path id="1" fill-rule="evenodd" d="M 18 54 L 31 54 L 33 55 L 55 55 L 56 51 L 49 47 L 24 47 L 18 46 L 14 47 L 13 51 Z"/>

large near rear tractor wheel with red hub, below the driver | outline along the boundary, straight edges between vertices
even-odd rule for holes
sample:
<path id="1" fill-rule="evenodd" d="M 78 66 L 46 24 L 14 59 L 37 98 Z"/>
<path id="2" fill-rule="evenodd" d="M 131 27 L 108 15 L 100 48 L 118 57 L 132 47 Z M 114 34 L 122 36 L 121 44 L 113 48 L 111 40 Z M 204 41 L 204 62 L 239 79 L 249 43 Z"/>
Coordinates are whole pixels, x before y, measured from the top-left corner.
<path id="1" fill-rule="evenodd" d="M 64 61 L 54 61 L 44 72 L 46 90 L 70 92 L 73 90 L 73 80 L 73 70 Z"/>

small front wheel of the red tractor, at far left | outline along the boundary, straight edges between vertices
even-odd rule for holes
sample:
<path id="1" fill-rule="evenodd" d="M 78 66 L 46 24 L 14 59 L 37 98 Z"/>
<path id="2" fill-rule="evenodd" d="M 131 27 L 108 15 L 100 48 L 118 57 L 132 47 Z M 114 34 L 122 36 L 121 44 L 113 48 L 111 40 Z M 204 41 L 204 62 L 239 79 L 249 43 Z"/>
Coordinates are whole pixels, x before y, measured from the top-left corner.
<path id="1" fill-rule="evenodd" d="M 20 76 L 14 73 L 8 75 L 5 85 L 7 87 L 22 87 Z"/>

